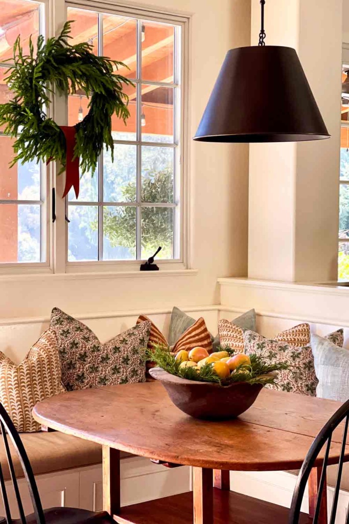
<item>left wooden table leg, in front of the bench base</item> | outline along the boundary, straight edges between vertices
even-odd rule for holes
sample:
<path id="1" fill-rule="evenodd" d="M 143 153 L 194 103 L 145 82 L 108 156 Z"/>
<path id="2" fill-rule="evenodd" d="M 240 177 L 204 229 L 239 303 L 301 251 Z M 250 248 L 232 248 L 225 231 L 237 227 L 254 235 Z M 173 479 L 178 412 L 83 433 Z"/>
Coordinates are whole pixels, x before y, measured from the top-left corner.
<path id="1" fill-rule="evenodd" d="M 103 446 L 103 509 L 109 515 L 120 512 L 120 451 Z"/>

